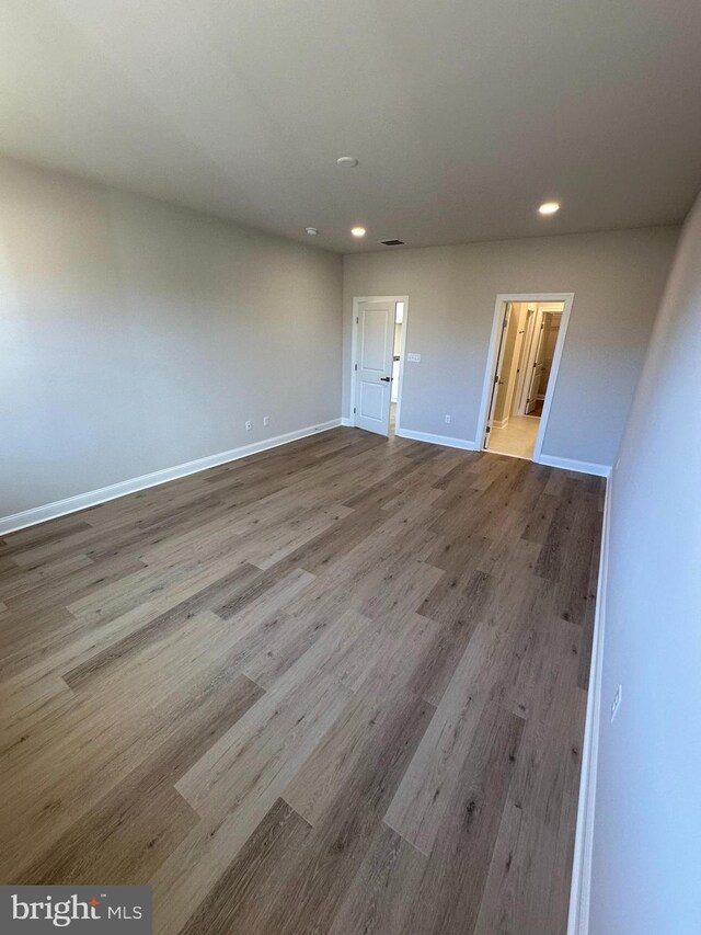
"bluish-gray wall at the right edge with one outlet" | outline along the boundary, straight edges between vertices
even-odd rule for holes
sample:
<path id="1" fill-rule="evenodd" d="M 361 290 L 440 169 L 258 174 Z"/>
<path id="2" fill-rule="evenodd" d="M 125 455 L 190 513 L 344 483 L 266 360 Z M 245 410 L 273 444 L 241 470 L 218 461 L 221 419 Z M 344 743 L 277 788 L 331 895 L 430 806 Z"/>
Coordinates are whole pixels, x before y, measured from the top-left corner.
<path id="1" fill-rule="evenodd" d="M 611 482 L 591 935 L 699 932 L 700 366 L 701 199 Z"/>

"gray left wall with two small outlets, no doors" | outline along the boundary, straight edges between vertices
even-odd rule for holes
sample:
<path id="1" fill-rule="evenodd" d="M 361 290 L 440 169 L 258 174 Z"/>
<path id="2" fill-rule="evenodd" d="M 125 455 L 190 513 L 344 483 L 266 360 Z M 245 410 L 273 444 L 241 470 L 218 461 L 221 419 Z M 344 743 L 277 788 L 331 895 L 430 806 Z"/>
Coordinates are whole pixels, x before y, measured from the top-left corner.
<path id="1" fill-rule="evenodd" d="M 11 160 L 0 199 L 0 516 L 338 418 L 340 256 Z"/>

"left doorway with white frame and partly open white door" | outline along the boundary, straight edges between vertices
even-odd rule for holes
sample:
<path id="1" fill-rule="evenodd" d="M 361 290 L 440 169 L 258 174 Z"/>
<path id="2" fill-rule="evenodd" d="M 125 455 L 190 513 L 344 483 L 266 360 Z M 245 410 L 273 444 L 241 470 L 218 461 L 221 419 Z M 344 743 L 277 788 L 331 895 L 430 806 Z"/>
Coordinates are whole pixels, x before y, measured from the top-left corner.
<path id="1" fill-rule="evenodd" d="M 400 429 L 407 296 L 353 300 L 352 424 L 378 435 Z"/>

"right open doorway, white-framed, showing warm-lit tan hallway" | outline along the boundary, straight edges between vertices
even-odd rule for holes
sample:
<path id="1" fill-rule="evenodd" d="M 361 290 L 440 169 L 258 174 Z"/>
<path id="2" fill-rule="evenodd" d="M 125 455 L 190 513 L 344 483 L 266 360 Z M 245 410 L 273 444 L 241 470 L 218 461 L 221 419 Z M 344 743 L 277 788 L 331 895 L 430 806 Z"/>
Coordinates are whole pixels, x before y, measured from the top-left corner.
<path id="1" fill-rule="evenodd" d="M 572 296 L 499 296 L 485 379 L 482 448 L 538 460 Z"/>

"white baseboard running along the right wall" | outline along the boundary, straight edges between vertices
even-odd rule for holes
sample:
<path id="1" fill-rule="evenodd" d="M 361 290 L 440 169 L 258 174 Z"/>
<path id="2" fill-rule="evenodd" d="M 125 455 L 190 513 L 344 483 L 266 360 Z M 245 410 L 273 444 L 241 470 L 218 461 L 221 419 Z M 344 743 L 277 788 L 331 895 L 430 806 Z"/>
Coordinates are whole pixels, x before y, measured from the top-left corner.
<path id="1" fill-rule="evenodd" d="M 570 917 L 567 935 L 587 935 L 589 931 L 589 898 L 591 892 L 591 852 L 594 846 L 594 810 L 596 803 L 596 772 L 599 751 L 599 718 L 601 714 L 601 676 L 604 670 L 604 630 L 606 625 L 606 582 L 609 563 L 609 531 L 611 524 L 611 482 L 606 484 L 601 558 L 596 595 L 596 614 L 591 641 L 591 669 L 587 691 L 587 716 L 582 746 L 582 775 L 577 831 L 572 865 Z"/>

